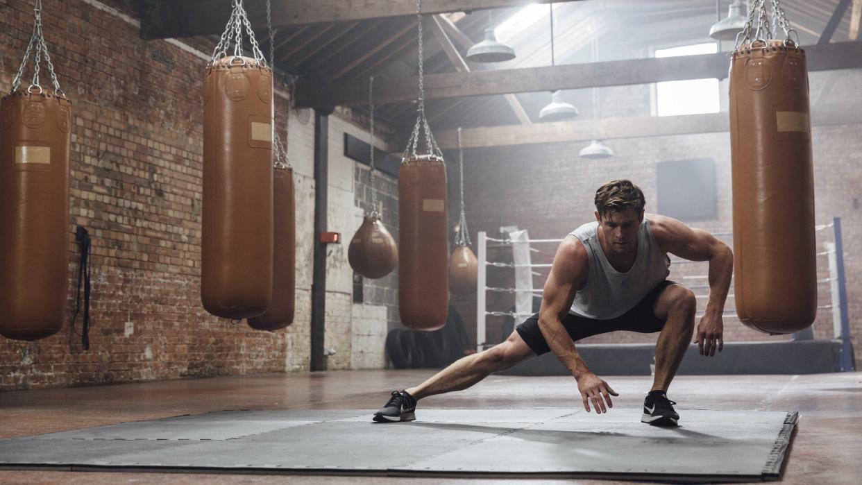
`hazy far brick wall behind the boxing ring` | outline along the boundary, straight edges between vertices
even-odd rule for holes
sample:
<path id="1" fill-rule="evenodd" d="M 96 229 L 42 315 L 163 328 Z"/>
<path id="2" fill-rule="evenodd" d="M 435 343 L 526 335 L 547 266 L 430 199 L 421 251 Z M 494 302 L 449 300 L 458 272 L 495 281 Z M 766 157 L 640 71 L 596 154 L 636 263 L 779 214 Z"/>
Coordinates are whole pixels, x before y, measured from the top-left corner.
<path id="1" fill-rule="evenodd" d="M 823 90 L 826 81 L 835 77 L 831 90 L 822 97 L 823 103 L 859 103 L 853 85 L 862 81 L 862 72 L 843 71 L 837 74 L 823 72 L 811 76 L 811 93 L 814 102 Z M 629 105 L 636 100 L 647 100 L 643 86 L 634 86 L 630 93 L 615 88 Z M 726 96 L 724 94 L 723 96 Z M 603 94 L 603 98 L 605 95 Z M 622 109 L 622 108 L 619 108 Z M 629 107 L 633 114 L 645 115 L 648 106 Z M 833 216 L 840 216 L 844 226 L 844 254 L 846 264 L 846 288 L 848 308 L 853 333 L 854 348 L 862 345 L 862 289 L 859 289 L 859 273 L 862 271 L 862 210 L 859 209 L 859 180 L 862 180 L 862 133 L 860 125 L 815 127 L 813 143 L 815 155 L 815 202 L 816 223 L 826 224 Z M 602 183 L 620 177 L 631 178 L 640 185 L 647 197 L 647 212 L 657 210 L 656 164 L 666 160 L 712 158 L 716 167 L 717 215 L 708 221 L 696 221 L 691 225 L 703 227 L 711 232 L 730 232 L 732 226 L 730 186 L 730 148 L 728 134 L 680 135 L 662 138 L 609 140 L 615 157 L 606 160 L 578 158 L 578 151 L 586 143 L 547 146 L 506 147 L 505 149 L 470 150 L 465 155 L 465 197 L 467 216 L 472 234 L 484 230 L 497 237 L 498 227 L 515 225 L 529 230 L 531 239 L 562 238 L 580 224 L 593 221 L 592 204 L 595 190 Z M 818 247 L 833 239 L 832 233 L 818 232 Z M 732 241 L 728 239 L 728 244 Z M 534 253 L 534 263 L 550 263 L 555 245 L 537 245 L 542 252 Z M 489 258 L 511 258 L 508 250 L 490 248 Z M 674 266 L 671 278 L 684 275 L 705 275 L 707 264 L 687 267 Z M 818 258 L 820 277 L 827 277 L 828 260 Z M 534 287 L 541 288 L 547 271 L 534 277 Z M 489 270 L 489 286 L 512 286 L 510 270 Z M 706 284 L 703 281 L 690 284 Z M 819 287 L 819 304 L 828 305 L 828 284 Z M 707 295 L 708 289 L 696 289 L 698 295 Z M 733 287 L 731 287 L 733 293 Z M 465 307 L 475 304 L 473 298 L 464 302 Z M 705 307 L 705 298 L 698 299 L 698 308 Z M 489 310 L 506 310 L 514 304 L 509 295 L 489 294 Z M 474 308 L 474 307 L 472 307 Z M 735 314 L 734 302 L 728 299 L 726 314 Z M 471 314 L 472 315 L 472 314 Z M 470 333 L 475 335 L 475 317 L 469 322 Z M 489 317 L 487 333 L 490 341 L 499 333 L 502 318 Z M 753 339 L 786 339 L 769 337 L 754 332 L 740 321 L 725 317 L 726 341 Z M 815 322 L 817 338 L 831 338 L 832 314 L 822 309 Z M 654 336 L 636 333 L 615 333 L 589 339 L 597 342 L 643 342 L 653 341 Z"/>

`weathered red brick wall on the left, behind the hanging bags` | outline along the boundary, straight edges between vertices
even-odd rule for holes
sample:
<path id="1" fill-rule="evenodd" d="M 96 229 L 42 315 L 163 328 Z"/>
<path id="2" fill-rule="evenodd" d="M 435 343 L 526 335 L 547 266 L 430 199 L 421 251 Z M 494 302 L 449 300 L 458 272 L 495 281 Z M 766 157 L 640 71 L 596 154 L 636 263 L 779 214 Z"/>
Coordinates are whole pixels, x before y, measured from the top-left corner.
<path id="1" fill-rule="evenodd" d="M 27 46 L 32 5 L 0 4 L 3 92 Z M 69 315 L 81 225 L 93 238 L 91 349 L 81 350 L 68 325 L 34 343 L 0 339 L 0 390 L 284 370 L 291 329 L 253 332 L 200 304 L 205 60 L 141 40 L 134 25 L 82 0 L 44 6 L 48 48 L 74 112 Z M 297 311 L 303 318 L 307 308 Z"/>

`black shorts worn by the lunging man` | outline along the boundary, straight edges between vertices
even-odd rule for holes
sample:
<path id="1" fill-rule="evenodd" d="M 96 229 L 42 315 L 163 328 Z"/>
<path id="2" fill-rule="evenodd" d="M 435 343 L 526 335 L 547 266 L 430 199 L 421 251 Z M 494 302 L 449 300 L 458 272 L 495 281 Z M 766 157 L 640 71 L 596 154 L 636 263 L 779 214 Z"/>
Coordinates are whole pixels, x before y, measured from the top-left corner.
<path id="1" fill-rule="evenodd" d="M 661 291 L 671 286 L 671 284 L 677 283 L 670 280 L 659 283 L 647 296 L 644 296 L 643 300 L 634 305 L 634 308 L 610 320 L 594 320 L 575 314 L 568 314 L 563 319 L 565 331 L 569 333 L 572 341 L 575 342 L 600 333 L 616 332 L 618 330 L 639 333 L 660 332 L 665 326 L 665 320 L 659 320 L 653 313 L 653 308 L 655 307 L 656 300 L 659 299 L 659 295 L 661 295 Z M 551 351 L 539 329 L 539 314 L 534 314 L 527 320 L 524 320 L 521 325 L 515 327 L 515 330 L 536 355 Z"/>

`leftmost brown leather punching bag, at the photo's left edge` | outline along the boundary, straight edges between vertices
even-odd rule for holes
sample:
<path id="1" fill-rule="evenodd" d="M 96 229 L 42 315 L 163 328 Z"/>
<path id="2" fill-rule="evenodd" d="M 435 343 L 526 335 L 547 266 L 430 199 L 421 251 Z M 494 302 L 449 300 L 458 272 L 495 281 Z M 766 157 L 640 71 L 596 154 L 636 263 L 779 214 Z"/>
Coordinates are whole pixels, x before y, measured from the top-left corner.
<path id="1" fill-rule="evenodd" d="M 53 90 L 0 101 L 0 334 L 44 339 L 66 316 L 72 103 Z"/>

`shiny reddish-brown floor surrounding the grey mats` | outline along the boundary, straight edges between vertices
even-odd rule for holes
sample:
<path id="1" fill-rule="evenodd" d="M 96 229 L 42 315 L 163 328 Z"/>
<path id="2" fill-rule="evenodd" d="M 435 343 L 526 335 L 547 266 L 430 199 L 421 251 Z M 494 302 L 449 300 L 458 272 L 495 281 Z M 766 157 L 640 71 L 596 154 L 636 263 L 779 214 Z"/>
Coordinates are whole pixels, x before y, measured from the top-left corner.
<path id="1" fill-rule="evenodd" d="M 0 393 L 0 438 L 152 420 L 225 409 L 376 408 L 391 389 L 422 381 L 432 370 L 361 370 L 311 374 L 217 377 L 120 384 L 97 388 Z M 616 407 L 640 407 L 651 384 L 646 376 L 609 377 L 620 393 Z M 862 482 L 862 373 L 808 376 L 679 376 L 668 393 L 678 408 L 800 413 L 784 483 Z M 491 376 L 472 389 L 428 398 L 422 407 L 579 407 L 578 389 L 567 377 Z M 611 410 L 611 413 L 615 410 Z M 684 422 L 684 411 L 681 413 Z M 597 420 L 602 416 L 597 415 Z M 639 419 L 634 416 L 633 419 Z M 2 470 L 0 483 L 396 483 L 488 481 L 339 476 L 240 476 L 84 473 Z M 542 481 L 548 482 L 548 481 Z M 609 483 L 557 481 L 566 483 Z"/>

